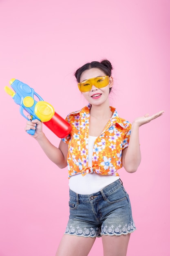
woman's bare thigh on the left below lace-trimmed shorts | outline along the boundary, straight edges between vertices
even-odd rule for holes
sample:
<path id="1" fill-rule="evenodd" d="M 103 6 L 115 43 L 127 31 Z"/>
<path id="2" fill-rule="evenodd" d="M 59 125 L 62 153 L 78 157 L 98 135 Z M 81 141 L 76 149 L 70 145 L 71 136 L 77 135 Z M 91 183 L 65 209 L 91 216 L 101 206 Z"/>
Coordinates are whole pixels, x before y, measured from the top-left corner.
<path id="1" fill-rule="evenodd" d="M 87 256 L 95 238 L 64 235 L 55 256 Z"/>

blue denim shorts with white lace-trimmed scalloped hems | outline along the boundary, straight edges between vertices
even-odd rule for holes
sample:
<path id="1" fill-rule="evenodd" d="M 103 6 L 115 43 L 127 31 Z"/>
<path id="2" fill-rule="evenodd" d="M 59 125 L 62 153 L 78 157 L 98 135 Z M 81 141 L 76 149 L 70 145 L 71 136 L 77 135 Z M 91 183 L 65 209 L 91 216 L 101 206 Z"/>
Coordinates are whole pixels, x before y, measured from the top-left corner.
<path id="1" fill-rule="evenodd" d="M 82 237 L 120 236 L 135 231 L 129 196 L 120 180 L 91 195 L 70 190 L 65 234 Z"/>

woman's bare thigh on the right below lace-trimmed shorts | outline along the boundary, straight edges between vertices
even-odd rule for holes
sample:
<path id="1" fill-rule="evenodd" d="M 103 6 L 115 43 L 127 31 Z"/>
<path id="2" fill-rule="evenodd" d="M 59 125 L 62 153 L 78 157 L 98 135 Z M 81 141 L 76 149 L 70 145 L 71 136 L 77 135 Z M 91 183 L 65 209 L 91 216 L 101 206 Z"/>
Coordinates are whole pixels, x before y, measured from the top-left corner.
<path id="1" fill-rule="evenodd" d="M 104 256 L 126 256 L 130 234 L 102 236 Z"/>

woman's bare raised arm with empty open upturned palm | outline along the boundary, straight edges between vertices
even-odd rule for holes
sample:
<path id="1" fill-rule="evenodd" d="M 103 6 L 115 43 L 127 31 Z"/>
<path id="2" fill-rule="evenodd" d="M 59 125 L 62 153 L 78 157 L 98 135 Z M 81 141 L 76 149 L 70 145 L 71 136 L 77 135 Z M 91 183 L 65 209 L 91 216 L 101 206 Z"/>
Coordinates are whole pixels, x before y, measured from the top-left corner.
<path id="1" fill-rule="evenodd" d="M 139 127 L 147 124 L 153 119 L 160 117 L 164 111 L 159 111 L 156 114 L 143 117 L 138 117 L 132 122 L 131 134 L 128 148 L 122 151 L 122 164 L 128 173 L 134 173 L 141 162 L 141 151 L 139 144 Z"/>

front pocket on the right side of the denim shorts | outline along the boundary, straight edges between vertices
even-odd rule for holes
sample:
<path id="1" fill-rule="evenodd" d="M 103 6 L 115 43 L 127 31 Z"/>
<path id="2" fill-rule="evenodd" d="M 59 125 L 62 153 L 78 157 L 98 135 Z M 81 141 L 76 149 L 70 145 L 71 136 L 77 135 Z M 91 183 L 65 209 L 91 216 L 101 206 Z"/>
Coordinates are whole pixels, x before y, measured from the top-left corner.
<path id="1" fill-rule="evenodd" d="M 113 191 L 113 193 L 110 193 L 109 195 L 107 195 L 106 198 L 110 204 L 115 204 L 123 200 L 127 200 L 126 194 L 124 190 L 121 188 L 121 186 L 119 186 L 118 189 Z"/>

